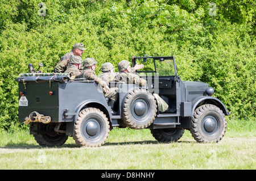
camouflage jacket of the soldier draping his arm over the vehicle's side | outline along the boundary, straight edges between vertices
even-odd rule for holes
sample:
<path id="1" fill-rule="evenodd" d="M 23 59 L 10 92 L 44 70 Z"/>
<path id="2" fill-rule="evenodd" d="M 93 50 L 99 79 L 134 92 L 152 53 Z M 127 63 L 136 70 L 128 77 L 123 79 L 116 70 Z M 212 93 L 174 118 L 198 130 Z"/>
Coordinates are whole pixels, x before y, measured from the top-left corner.
<path id="1" fill-rule="evenodd" d="M 84 68 L 84 70 L 82 70 L 81 74 L 79 76 L 77 76 L 77 78 L 86 78 L 89 81 L 95 81 L 102 88 L 104 88 L 105 86 L 108 86 L 105 81 L 103 81 L 101 78 L 99 78 L 97 76 L 95 71 L 93 71 L 92 69 L 89 69 L 89 68 Z"/>

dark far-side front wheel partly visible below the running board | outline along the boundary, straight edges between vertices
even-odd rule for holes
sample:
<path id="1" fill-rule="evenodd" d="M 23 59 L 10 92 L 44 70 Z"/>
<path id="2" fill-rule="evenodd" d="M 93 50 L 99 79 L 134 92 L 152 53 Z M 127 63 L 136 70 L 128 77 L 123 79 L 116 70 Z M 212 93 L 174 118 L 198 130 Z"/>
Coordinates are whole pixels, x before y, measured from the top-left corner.
<path id="1" fill-rule="evenodd" d="M 152 136 L 160 142 L 177 142 L 183 136 L 184 129 L 151 129 Z"/>

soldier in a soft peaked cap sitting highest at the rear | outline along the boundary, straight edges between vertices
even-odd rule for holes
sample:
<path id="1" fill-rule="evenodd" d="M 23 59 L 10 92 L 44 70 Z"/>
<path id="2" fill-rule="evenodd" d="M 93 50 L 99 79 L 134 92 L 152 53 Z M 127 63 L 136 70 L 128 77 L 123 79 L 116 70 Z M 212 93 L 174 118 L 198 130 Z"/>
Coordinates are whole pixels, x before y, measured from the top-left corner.
<path id="1" fill-rule="evenodd" d="M 75 43 L 72 46 L 72 50 L 60 58 L 60 61 L 55 66 L 54 72 L 55 73 L 64 73 L 64 71 L 67 70 L 67 68 L 69 66 L 69 61 L 71 60 L 71 58 L 73 56 L 81 57 L 82 53 L 84 53 L 84 50 L 86 50 L 84 48 L 84 44 Z"/>

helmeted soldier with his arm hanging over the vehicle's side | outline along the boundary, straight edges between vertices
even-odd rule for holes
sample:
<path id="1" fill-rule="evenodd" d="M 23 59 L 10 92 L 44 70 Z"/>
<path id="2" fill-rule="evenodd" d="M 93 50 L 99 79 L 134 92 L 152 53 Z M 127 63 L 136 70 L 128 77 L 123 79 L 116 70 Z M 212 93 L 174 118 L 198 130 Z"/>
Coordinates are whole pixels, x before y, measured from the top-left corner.
<path id="1" fill-rule="evenodd" d="M 77 76 L 77 78 L 86 78 L 88 80 L 92 80 L 98 83 L 98 85 L 104 91 L 103 94 L 106 96 L 106 98 L 109 98 L 108 105 L 112 108 L 112 113 L 115 113 L 113 108 L 114 103 L 118 99 L 118 92 L 114 88 L 109 89 L 107 83 L 96 75 L 94 71 L 96 68 L 96 64 L 97 62 L 94 58 L 85 58 L 84 64 L 82 65 L 84 67 L 84 70 L 82 70 L 81 74 Z"/>

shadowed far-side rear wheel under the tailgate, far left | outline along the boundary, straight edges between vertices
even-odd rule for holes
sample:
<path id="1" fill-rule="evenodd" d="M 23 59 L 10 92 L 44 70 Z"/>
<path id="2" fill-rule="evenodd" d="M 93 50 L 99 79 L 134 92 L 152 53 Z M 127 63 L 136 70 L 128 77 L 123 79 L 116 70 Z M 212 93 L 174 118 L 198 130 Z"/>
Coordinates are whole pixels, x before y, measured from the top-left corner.
<path id="1" fill-rule="evenodd" d="M 55 132 L 55 124 L 39 124 L 38 128 L 40 130 L 39 133 L 33 134 L 36 142 L 40 146 L 62 146 L 68 139 L 68 135 L 65 133 Z"/>

